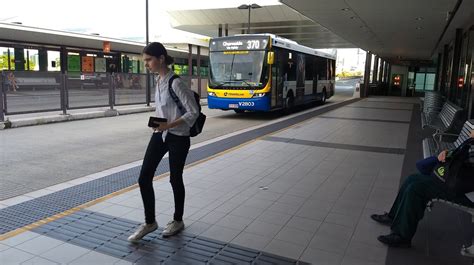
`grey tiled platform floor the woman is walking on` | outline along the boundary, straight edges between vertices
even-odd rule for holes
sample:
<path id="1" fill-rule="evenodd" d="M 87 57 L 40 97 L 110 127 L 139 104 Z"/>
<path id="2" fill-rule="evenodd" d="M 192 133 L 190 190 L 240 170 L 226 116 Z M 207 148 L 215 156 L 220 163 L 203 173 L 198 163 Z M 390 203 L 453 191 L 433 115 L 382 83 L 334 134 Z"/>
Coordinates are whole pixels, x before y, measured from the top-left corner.
<path id="1" fill-rule="evenodd" d="M 459 254 L 470 216 L 442 206 L 425 214 L 411 249 L 377 241 L 390 231 L 370 214 L 389 210 L 422 157 L 417 103 L 349 99 L 193 145 L 186 229 L 168 239 L 166 157 L 154 181 L 160 228 L 139 244 L 126 238 L 143 222 L 141 161 L 8 199 L 0 263 L 472 264 Z"/>

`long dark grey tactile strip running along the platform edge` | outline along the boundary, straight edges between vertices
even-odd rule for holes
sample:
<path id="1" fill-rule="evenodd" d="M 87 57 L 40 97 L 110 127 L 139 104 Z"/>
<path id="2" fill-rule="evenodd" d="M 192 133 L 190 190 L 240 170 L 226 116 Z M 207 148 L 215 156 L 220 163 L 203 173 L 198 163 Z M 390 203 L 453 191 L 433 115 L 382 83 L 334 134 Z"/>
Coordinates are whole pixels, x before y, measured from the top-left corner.
<path id="1" fill-rule="evenodd" d="M 349 100 L 343 103 L 327 106 L 324 109 L 310 111 L 291 119 L 270 124 L 193 149 L 189 152 L 186 164 L 205 159 L 247 141 L 351 104 L 355 101 L 357 100 Z M 92 180 L 33 200 L 0 209 L 0 235 L 85 204 L 97 198 L 101 198 L 112 192 L 130 187 L 137 183 L 140 168 L 141 166 L 130 168 L 100 179 Z M 168 159 L 165 158 L 159 164 L 155 174 L 161 175 L 168 171 Z"/>

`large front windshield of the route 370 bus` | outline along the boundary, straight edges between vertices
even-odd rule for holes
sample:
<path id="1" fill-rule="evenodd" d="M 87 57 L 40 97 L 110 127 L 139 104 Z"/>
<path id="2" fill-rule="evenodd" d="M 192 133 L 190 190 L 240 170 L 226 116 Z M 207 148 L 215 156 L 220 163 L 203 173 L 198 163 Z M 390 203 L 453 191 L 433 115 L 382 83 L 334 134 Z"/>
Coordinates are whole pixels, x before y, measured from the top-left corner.
<path id="1" fill-rule="evenodd" d="M 265 51 L 211 52 L 210 85 L 222 87 L 261 87 L 265 83 Z"/>

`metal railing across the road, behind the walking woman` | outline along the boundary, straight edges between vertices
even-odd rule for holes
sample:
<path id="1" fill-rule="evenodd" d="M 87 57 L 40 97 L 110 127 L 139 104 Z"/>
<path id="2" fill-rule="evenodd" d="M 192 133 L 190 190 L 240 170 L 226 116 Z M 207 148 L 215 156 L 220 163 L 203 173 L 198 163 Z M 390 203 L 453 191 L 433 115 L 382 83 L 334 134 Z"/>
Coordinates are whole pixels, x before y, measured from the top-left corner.
<path id="1" fill-rule="evenodd" d="M 182 78 L 189 82 L 188 77 Z M 146 74 L 2 71 L 0 122 L 5 121 L 5 115 L 46 111 L 67 114 L 72 109 L 150 105 L 154 102 L 155 79 L 150 76 L 150 100 L 146 82 Z M 201 82 L 202 97 L 207 95 L 205 82 Z M 197 78 L 189 83 L 197 91 Z"/>

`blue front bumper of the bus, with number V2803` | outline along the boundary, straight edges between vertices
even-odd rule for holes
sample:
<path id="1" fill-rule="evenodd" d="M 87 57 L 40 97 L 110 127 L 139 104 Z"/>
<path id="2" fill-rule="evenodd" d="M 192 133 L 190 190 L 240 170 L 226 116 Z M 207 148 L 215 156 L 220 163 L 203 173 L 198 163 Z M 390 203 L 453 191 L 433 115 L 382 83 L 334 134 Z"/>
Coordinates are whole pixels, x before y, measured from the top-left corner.
<path id="1" fill-rule="evenodd" d="M 210 109 L 269 111 L 270 96 L 266 95 L 261 98 L 218 98 L 208 96 L 207 104 Z"/>

